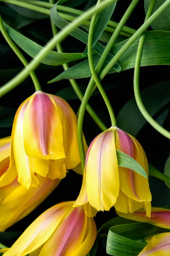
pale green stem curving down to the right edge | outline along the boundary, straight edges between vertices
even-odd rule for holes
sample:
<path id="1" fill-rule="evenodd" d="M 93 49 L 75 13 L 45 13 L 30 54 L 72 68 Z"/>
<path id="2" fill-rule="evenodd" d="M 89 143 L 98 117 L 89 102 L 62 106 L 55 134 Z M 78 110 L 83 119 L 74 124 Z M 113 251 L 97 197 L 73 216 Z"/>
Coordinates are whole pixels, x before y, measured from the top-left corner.
<path id="1" fill-rule="evenodd" d="M 150 6 L 149 6 L 149 9 L 147 11 L 145 22 L 150 17 L 150 15 L 152 14 L 155 4 L 156 4 L 156 0 L 152 0 L 150 2 Z M 134 94 L 135 94 L 136 104 L 138 105 L 139 110 L 141 111 L 142 115 L 147 120 L 147 122 L 149 122 L 150 125 L 152 125 L 153 128 L 155 128 L 160 134 L 162 134 L 165 137 L 167 137 L 168 139 L 170 139 L 170 132 L 167 131 L 166 129 L 164 129 L 161 125 L 159 125 L 152 118 L 152 116 L 150 116 L 150 114 L 147 112 L 146 108 L 144 107 L 144 104 L 142 102 L 142 98 L 141 98 L 141 95 L 140 95 L 139 73 L 140 73 L 140 64 L 141 64 L 141 58 L 142 58 L 142 52 L 143 52 L 145 38 L 146 38 L 146 32 L 144 34 L 142 34 L 140 39 L 139 39 L 139 45 L 138 45 L 138 49 L 137 49 L 137 53 L 136 53 L 134 78 L 133 78 Z"/>

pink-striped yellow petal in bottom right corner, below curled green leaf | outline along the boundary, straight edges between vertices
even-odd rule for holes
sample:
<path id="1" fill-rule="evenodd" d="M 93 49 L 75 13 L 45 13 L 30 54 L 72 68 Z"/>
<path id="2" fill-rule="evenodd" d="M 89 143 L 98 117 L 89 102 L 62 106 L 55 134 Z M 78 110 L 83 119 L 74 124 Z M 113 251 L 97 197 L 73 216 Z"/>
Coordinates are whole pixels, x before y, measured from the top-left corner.
<path id="1" fill-rule="evenodd" d="M 169 256 L 170 255 L 170 233 L 162 233 L 148 238 L 140 256 Z"/>

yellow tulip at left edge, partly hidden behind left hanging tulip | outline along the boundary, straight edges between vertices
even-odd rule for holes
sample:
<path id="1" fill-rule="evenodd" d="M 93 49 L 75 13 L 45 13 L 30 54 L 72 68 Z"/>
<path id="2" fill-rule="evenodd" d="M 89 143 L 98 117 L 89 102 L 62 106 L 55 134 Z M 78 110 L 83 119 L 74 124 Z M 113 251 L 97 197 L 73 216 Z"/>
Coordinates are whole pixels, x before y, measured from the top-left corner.
<path id="1" fill-rule="evenodd" d="M 0 139 L 0 185 L 8 177 L 10 137 Z M 6 175 L 7 174 L 7 175 Z M 0 232 L 11 227 L 33 211 L 58 186 L 59 179 L 36 174 L 37 188 L 21 186 L 15 178 L 9 185 L 0 187 Z"/>

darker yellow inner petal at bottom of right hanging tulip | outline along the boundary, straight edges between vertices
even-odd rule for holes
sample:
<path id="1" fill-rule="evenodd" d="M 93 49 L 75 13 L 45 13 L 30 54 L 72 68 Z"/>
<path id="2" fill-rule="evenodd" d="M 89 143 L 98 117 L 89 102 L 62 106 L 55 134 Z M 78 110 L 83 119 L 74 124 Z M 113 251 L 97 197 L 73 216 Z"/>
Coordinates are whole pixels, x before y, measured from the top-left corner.
<path id="1" fill-rule="evenodd" d="M 114 204 L 116 211 L 126 213 L 135 212 L 144 206 L 144 202 L 137 202 L 132 198 L 128 197 L 122 190 L 119 191 L 119 196 Z"/>

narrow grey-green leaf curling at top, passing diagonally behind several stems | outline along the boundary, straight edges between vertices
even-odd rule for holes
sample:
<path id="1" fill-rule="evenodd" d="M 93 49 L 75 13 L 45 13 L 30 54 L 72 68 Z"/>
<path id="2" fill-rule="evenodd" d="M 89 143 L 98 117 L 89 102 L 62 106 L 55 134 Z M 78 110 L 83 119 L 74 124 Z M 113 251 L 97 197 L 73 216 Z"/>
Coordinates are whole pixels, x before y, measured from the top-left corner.
<path id="1" fill-rule="evenodd" d="M 68 21 L 66 21 L 65 19 L 63 19 L 57 12 L 57 4 L 61 4 L 66 2 L 67 0 L 59 0 L 54 6 L 53 8 L 51 8 L 51 13 L 50 13 L 50 17 L 52 22 L 59 27 L 59 29 L 64 29 L 64 27 L 66 25 L 69 24 Z M 88 44 L 88 34 L 84 31 L 82 31 L 79 28 L 74 29 L 73 32 L 70 33 L 70 35 L 72 35 L 73 37 L 77 38 L 78 40 L 82 41 L 85 44 Z M 99 44 L 98 42 L 95 44 L 94 46 L 94 50 L 95 52 L 97 52 L 99 55 L 102 55 L 103 51 L 105 50 L 105 47 L 102 44 Z M 108 54 L 107 57 L 107 61 L 109 62 L 111 59 L 113 58 L 113 55 L 111 53 Z M 118 62 L 116 62 L 116 64 L 113 67 L 115 69 L 115 72 L 120 72 L 121 71 L 121 67 L 118 64 Z"/>

